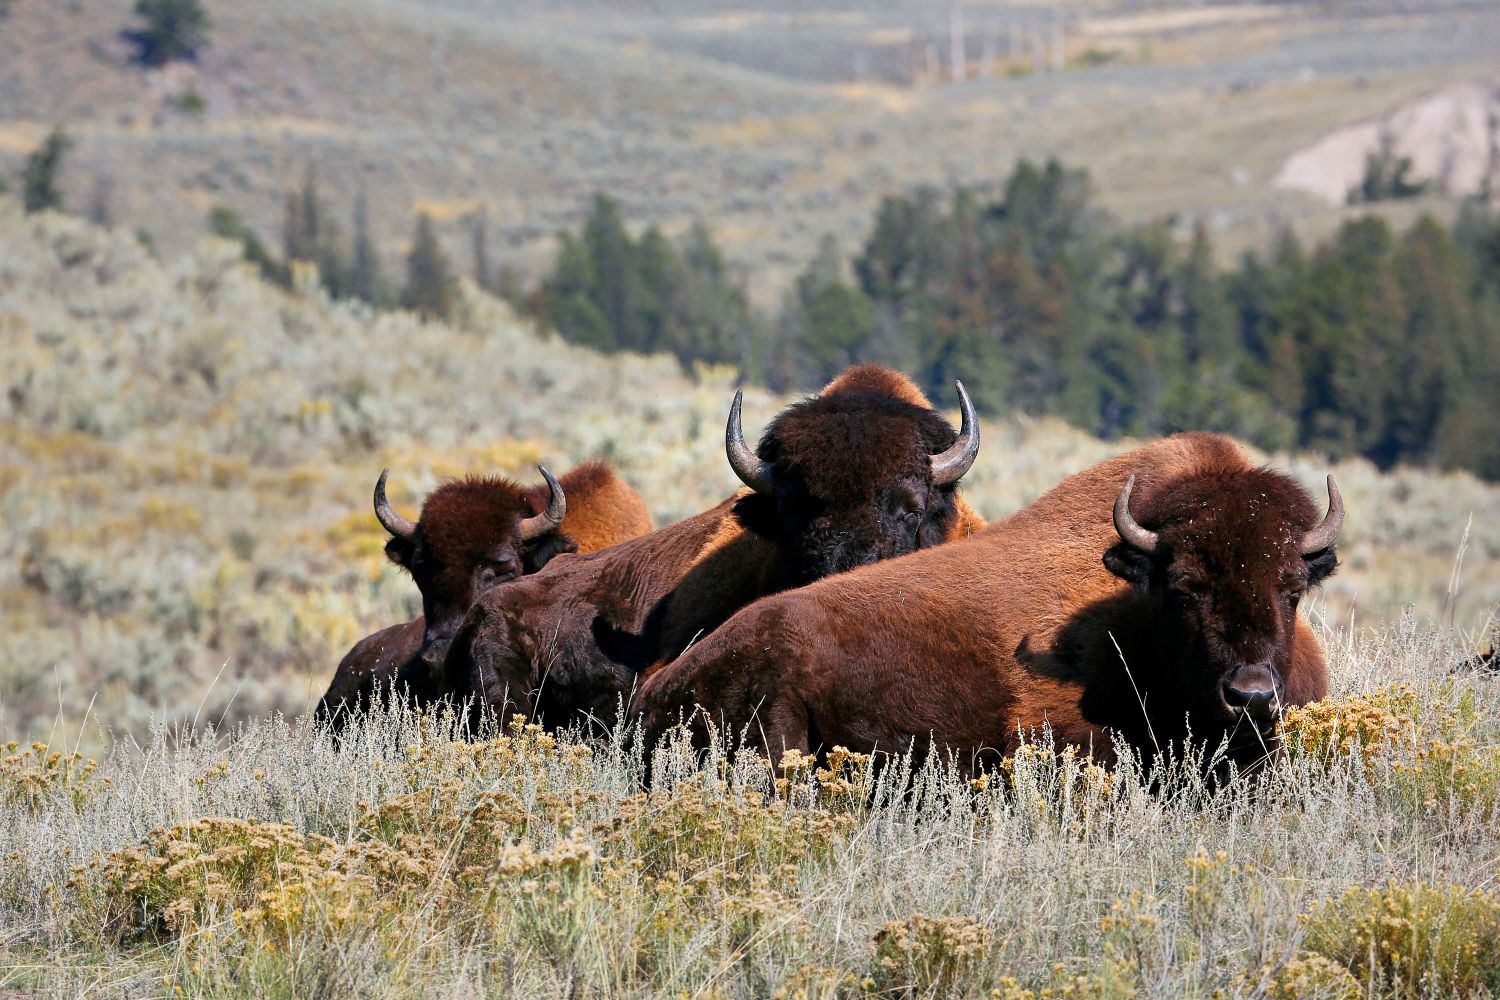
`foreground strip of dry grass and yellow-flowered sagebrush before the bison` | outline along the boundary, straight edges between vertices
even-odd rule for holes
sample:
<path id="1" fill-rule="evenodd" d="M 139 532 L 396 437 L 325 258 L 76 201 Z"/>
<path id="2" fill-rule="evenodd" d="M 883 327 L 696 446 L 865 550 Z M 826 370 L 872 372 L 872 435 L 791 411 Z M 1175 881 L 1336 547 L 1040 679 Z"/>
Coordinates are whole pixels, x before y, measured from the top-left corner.
<path id="1" fill-rule="evenodd" d="M 524 720 L 156 730 L 0 759 L 4 996 L 1491 997 L 1500 679 L 1402 625 L 1330 648 L 1284 754 L 1149 790 Z"/>

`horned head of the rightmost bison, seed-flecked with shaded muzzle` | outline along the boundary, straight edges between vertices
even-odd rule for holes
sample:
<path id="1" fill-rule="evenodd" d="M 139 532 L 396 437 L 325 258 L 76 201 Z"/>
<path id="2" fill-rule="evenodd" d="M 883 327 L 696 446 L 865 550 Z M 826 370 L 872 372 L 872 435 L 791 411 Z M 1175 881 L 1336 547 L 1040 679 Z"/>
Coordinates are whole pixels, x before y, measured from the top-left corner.
<path id="1" fill-rule="evenodd" d="M 1155 664 L 1194 730 L 1258 742 L 1281 715 L 1298 603 L 1338 565 L 1344 502 L 1328 514 L 1269 469 L 1203 472 L 1164 484 L 1131 513 L 1136 477 L 1114 501 L 1120 541 L 1104 565 L 1152 604 Z M 1143 664 L 1148 666 L 1148 664 Z"/>

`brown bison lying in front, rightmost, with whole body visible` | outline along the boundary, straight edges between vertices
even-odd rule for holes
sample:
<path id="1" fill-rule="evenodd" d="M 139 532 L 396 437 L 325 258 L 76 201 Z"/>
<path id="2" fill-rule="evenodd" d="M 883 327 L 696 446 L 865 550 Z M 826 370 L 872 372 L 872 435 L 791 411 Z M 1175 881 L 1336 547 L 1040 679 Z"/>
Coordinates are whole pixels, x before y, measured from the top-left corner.
<path id="1" fill-rule="evenodd" d="M 1023 733 L 1112 759 L 1191 726 L 1258 759 L 1328 691 L 1298 616 L 1336 565 L 1308 493 L 1233 441 L 1178 435 L 1064 480 L 978 535 L 756 601 L 639 688 L 658 738 L 694 708 L 778 759 L 843 745 L 982 766 Z"/>

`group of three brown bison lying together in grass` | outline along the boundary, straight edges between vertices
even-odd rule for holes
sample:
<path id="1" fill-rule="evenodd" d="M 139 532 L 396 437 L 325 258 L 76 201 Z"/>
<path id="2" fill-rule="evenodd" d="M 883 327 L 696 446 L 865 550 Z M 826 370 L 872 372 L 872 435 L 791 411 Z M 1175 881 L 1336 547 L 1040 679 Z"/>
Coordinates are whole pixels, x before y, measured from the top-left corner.
<path id="1" fill-rule="evenodd" d="M 744 489 L 651 531 L 591 462 L 524 487 L 447 483 L 416 522 L 375 484 L 386 552 L 423 616 L 360 640 L 316 717 L 386 699 L 614 726 L 686 724 L 772 759 L 836 745 L 982 768 L 1048 729 L 1102 762 L 1190 736 L 1250 765 L 1328 670 L 1298 603 L 1334 573 L 1328 511 L 1232 439 L 1182 433 L 1062 480 L 986 525 L 958 495 L 980 423 L 954 430 L 903 375 L 846 370 L 752 448 Z M 650 745 L 650 742 L 648 742 Z"/>

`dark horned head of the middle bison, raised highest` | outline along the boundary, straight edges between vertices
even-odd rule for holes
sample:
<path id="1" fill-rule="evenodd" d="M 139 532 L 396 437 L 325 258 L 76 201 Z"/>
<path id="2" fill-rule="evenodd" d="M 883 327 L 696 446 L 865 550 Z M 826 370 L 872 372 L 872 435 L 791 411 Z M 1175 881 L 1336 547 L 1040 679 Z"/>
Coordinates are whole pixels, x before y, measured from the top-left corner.
<path id="1" fill-rule="evenodd" d="M 740 427 L 742 393 L 729 408 L 729 465 L 754 490 L 740 504 L 747 526 L 786 553 L 788 585 L 801 585 L 948 538 L 954 489 L 980 453 L 980 421 L 957 382 L 963 426 L 879 391 L 837 391 L 784 409 L 754 451 Z"/>

